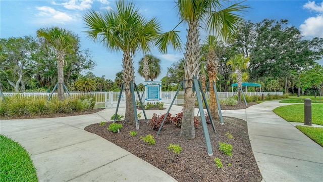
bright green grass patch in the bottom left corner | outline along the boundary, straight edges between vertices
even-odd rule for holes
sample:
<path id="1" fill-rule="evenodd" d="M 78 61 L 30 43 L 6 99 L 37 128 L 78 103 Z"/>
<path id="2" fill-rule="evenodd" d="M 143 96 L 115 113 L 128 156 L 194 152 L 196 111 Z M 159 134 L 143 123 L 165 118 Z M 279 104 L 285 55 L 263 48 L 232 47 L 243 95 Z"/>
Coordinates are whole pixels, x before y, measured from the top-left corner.
<path id="1" fill-rule="evenodd" d="M 0 181 L 38 181 L 28 152 L 0 134 Z"/>

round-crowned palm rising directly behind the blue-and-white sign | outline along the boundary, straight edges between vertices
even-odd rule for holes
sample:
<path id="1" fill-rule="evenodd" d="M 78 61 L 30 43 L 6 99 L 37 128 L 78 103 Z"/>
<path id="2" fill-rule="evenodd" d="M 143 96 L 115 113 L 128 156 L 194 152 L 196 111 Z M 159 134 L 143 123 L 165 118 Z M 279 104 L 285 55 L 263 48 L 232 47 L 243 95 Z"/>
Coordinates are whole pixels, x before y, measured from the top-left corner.
<path id="1" fill-rule="evenodd" d="M 139 68 L 138 73 L 145 78 L 145 81 L 153 81 L 160 74 L 160 59 L 152 56 L 145 55 L 138 62 Z"/>

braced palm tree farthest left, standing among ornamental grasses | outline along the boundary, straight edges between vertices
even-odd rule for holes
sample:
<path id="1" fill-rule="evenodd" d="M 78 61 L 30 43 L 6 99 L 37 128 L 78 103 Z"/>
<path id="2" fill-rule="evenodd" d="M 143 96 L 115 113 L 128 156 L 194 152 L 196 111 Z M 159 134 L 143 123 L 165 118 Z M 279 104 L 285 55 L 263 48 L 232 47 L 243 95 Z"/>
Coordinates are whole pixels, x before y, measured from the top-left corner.
<path id="1" fill-rule="evenodd" d="M 55 51 L 57 59 L 58 99 L 64 100 L 64 58 L 72 52 L 78 43 L 78 38 L 71 31 L 59 27 L 40 28 L 37 36 L 43 37 L 45 46 Z"/>

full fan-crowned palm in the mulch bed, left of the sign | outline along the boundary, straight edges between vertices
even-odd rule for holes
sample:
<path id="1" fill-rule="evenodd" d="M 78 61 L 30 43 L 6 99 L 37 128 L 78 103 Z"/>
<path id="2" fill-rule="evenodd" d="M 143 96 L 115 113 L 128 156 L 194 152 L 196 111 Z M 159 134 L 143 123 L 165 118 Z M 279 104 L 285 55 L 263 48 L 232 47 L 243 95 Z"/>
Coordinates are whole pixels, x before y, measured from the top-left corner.
<path id="1" fill-rule="evenodd" d="M 133 3 L 124 1 L 116 2 L 116 10 L 97 13 L 90 11 L 84 15 L 87 35 L 94 42 L 101 42 L 108 49 L 123 52 L 123 82 L 126 94 L 125 120 L 135 124 L 130 82 L 134 81 L 134 67 L 132 57 L 137 51 L 147 53 L 156 38 L 161 35 L 161 28 L 156 18 L 146 20 L 135 9 Z M 174 32 L 166 33 L 169 35 Z M 165 34 L 165 35 L 166 35 Z M 168 38 L 160 38 L 156 42 L 160 51 L 166 52 L 170 41 Z M 173 41 L 179 44 L 178 38 Z"/>

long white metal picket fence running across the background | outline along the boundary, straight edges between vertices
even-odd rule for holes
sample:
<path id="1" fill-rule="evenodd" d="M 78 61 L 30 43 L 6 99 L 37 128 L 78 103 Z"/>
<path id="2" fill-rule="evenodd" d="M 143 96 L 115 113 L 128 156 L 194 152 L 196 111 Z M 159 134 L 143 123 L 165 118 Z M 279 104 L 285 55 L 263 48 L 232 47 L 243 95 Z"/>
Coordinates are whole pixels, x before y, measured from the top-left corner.
<path id="1" fill-rule="evenodd" d="M 3 93 L 4 96 L 13 96 L 16 95 L 17 93 L 9 93 L 5 92 Z M 19 95 L 23 95 L 26 97 L 33 97 L 34 99 L 48 99 L 50 93 L 45 93 L 45 92 L 25 92 L 25 93 L 18 93 Z M 94 96 L 96 99 L 96 104 L 94 108 L 116 108 L 118 104 L 118 98 L 119 98 L 120 92 L 92 92 L 92 93 L 77 93 L 77 92 L 72 92 L 70 93 L 71 98 L 79 97 L 79 96 Z M 140 97 L 142 96 L 142 92 L 139 92 Z M 166 104 L 171 104 L 174 97 L 175 97 L 176 92 L 161 92 L 161 100 L 159 102 L 163 102 Z M 218 92 L 218 97 L 219 99 L 226 99 L 226 98 L 231 98 L 234 93 L 232 92 Z M 264 94 L 264 96 L 270 94 L 270 95 L 283 95 L 283 92 L 247 92 L 244 93 L 245 95 L 248 96 L 261 96 L 261 94 Z M 206 99 L 209 97 L 209 93 L 206 95 Z M 54 93 L 52 95 L 52 98 L 57 98 L 57 93 Z M 68 94 L 65 93 L 65 98 L 69 98 Z M 135 93 L 135 98 L 136 100 L 139 100 L 137 93 Z M 179 92 L 177 94 L 177 97 L 174 101 L 174 104 L 184 104 L 184 92 Z M 122 92 L 121 95 L 121 100 L 120 100 L 120 105 L 119 107 L 126 107 L 126 98 L 125 98 L 125 93 Z"/>

